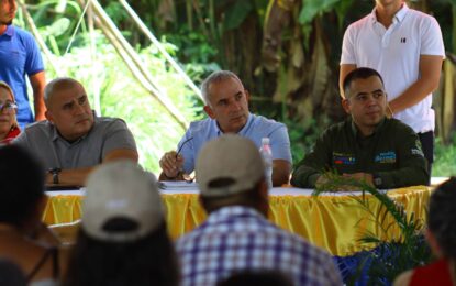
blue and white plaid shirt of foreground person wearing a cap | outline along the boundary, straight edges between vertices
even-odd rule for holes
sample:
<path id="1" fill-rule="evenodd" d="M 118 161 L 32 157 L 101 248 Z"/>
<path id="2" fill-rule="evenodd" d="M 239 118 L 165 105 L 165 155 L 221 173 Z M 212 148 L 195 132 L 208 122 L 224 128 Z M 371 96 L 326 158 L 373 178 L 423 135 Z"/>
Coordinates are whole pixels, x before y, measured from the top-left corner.
<path id="1" fill-rule="evenodd" d="M 224 207 L 176 242 L 182 285 L 215 285 L 233 272 L 275 270 L 294 285 L 342 285 L 332 257 L 252 208 Z"/>

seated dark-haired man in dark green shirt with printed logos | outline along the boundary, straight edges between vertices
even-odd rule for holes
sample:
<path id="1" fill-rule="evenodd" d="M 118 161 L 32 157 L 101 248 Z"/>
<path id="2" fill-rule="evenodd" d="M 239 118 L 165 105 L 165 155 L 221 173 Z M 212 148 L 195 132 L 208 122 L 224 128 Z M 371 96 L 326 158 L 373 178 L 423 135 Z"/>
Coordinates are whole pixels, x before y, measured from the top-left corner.
<path id="1" fill-rule="evenodd" d="M 344 90 L 342 106 L 349 118 L 323 132 L 298 163 L 291 185 L 318 187 L 329 182 L 324 172 L 378 189 L 427 185 L 430 175 L 416 133 L 386 117 L 387 94 L 380 74 L 356 68 L 345 77 Z"/>

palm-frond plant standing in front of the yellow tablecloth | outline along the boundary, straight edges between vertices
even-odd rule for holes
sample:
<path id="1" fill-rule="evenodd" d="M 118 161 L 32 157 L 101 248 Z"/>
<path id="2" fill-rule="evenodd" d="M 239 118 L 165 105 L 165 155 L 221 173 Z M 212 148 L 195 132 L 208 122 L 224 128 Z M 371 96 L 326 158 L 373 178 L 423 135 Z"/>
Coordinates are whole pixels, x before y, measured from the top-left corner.
<path id="1" fill-rule="evenodd" d="M 354 255 L 359 263 L 358 268 L 346 280 L 349 285 L 359 279 L 368 285 L 390 285 L 400 273 L 431 261 L 431 251 L 422 234 L 424 222 L 416 219 L 414 213 L 407 213 L 402 204 L 366 182 L 334 173 L 326 173 L 324 176 L 327 183 L 318 186 L 313 195 L 318 196 L 327 190 L 336 191 L 341 188 L 360 190 L 362 196 L 353 196 L 353 199 L 366 211 L 367 216 L 364 220 L 372 221 L 379 230 L 378 233 L 366 232 L 360 239 L 366 249 L 374 248 L 374 250 Z M 380 208 L 375 211 L 369 202 L 371 197 L 380 202 Z M 400 235 L 391 237 L 397 229 Z M 362 276 L 367 276 L 367 282 L 366 277 Z"/>

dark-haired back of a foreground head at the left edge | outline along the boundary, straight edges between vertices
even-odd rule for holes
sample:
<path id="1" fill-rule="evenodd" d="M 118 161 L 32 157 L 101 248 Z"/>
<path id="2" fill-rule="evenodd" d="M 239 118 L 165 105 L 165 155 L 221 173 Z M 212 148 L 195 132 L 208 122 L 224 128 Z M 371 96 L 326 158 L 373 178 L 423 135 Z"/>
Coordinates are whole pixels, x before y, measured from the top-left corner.
<path id="1" fill-rule="evenodd" d="M 21 227 L 44 196 L 45 170 L 18 145 L 0 147 L 0 221 Z"/>

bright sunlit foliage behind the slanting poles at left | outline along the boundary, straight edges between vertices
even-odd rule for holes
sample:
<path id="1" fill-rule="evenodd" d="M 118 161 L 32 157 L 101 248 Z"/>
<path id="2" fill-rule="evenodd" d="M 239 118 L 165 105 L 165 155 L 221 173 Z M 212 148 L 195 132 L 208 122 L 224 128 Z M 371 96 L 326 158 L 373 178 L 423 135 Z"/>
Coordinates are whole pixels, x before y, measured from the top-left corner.
<path id="1" fill-rule="evenodd" d="M 33 11 L 38 23 L 46 23 L 38 26 L 40 34 L 44 36 L 47 46 L 52 47 L 51 56 L 44 59 L 47 67 L 55 67 L 46 69 L 46 77 L 69 76 L 82 82 L 98 114 L 125 120 L 136 139 L 140 163 L 146 169 L 158 173 L 160 156 L 176 147 L 185 132 L 182 127 L 141 87 L 99 30 L 89 33 L 82 21 L 82 29 L 75 33 L 77 21 L 81 16 L 77 2 L 40 1 L 29 6 L 29 9 Z M 43 15 L 51 15 L 53 20 L 44 21 Z M 19 19 L 19 24 L 25 25 L 21 11 Z M 70 24 L 65 19 L 71 19 Z M 74 33 L 75 41 L 71 43 Z M 163 41 L 162 45 L 176 56 L 176 45 L 166 41 Z M 202 102 L 181 77 L 169 68 L 169 64 L 157 48 L 153 45 L 137 46 L 136 52 L 142 66 L 180 110 L 186 122 L 200 119 Z M 190 68 L 194 78 L 202 78 L 201 73 L 205 73 L 198 64 L 192 64 Z"/>

